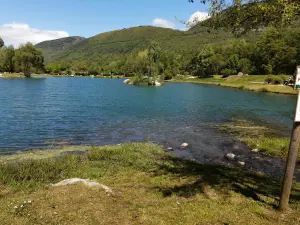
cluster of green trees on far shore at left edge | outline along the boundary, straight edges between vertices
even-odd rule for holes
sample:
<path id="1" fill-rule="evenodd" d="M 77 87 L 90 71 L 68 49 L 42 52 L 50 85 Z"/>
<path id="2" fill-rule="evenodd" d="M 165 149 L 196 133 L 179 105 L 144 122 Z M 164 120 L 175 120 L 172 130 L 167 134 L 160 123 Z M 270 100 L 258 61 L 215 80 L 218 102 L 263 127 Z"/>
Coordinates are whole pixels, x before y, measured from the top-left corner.
<path id="1" fill-rule="evenodd" d="M 4 46 L 0 38 L 0 72 L 18 73 L 30 77 L 31 73 L 45 71 L 43 52 L 31 43 L 15 49 L 12 45 Z"/>

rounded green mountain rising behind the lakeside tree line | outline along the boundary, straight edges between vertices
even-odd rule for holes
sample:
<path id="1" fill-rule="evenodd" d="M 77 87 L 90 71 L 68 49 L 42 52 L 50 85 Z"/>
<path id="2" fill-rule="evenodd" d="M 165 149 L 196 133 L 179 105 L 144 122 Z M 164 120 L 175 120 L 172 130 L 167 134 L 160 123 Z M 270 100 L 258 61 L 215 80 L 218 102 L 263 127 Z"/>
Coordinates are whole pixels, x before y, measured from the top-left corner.
<path id="1" fill-rule="evenodd" d="M 250 34 L 246 39 L 254 37 Z M 95 62 L 124 58 L 134 50 L 146 48 L 151 41 L 157 42 L 165 51 L 186 55 L 199 51 L 206 44 L 224 43 L 234 37 L 228 31 L 209 31 L 202 26 L 188 31 L 140 26 L 101 33 L 87 39 L 70 38 L 42 42 L 36 46 L 44 50 L 47 63 L 65 60 Z"/>

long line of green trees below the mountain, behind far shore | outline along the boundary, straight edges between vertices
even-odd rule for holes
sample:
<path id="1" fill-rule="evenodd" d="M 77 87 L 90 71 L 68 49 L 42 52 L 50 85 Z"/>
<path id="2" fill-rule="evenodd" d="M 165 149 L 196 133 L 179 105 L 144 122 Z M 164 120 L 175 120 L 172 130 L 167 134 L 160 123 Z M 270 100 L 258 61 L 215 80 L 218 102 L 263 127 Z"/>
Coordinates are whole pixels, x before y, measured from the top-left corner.
<path id="1" fill-rule="evenodd" d="M 123 57 L 94 61 L 64 61 L 46 66 L 48 73 L 78 75 L 163 75 L 199 77 L 211 75 L 293 74 L 300 63 L 300 29 L 267 28 L 256 39 L 229 39 L 224 44 L 207 44 L 198 51 L 181 54 L 166 51 L 156 42 Z"/>

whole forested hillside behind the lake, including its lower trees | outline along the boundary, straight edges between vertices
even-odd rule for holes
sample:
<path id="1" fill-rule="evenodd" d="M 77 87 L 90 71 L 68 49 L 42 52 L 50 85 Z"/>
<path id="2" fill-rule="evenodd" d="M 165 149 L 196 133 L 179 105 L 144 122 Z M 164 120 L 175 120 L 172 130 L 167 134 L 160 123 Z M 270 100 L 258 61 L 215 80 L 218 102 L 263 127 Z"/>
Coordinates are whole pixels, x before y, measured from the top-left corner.
<path id="1" fill-rule="evenodd" d="M 300 30 L 265 28 L 235 37 L 226 29 L 196 25 L 188 31 L 140 26 L 102 33 L 62 47 L 44 49 L 49 73 L 292 74 L 300 62 Z M 153 58 L 153 54 L 155 57 Z M 153 59 L 153 60 L 150 60 Z"/>

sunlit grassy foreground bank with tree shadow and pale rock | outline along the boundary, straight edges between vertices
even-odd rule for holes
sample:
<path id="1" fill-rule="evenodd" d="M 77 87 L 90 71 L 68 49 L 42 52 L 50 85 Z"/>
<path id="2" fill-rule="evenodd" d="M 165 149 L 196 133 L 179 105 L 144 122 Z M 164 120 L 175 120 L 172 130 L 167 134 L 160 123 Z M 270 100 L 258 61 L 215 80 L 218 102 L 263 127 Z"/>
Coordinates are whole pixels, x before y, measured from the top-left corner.
<path id="1" fill-rule="evenodd" d="M 4 224 L 300 222 L 297 183 L 291 208 L 281 214 L 274 209 L 280 182 L 261 174 L 180 159 L 151 143 L 86 148 L 79 155 L 61 149 L 51 156 L 47 153 L 49 157 L 2 161 L 0 220 Z M 80 184 L 49 187 L 71 177 L 98 181 L 115 194 Z"/>

